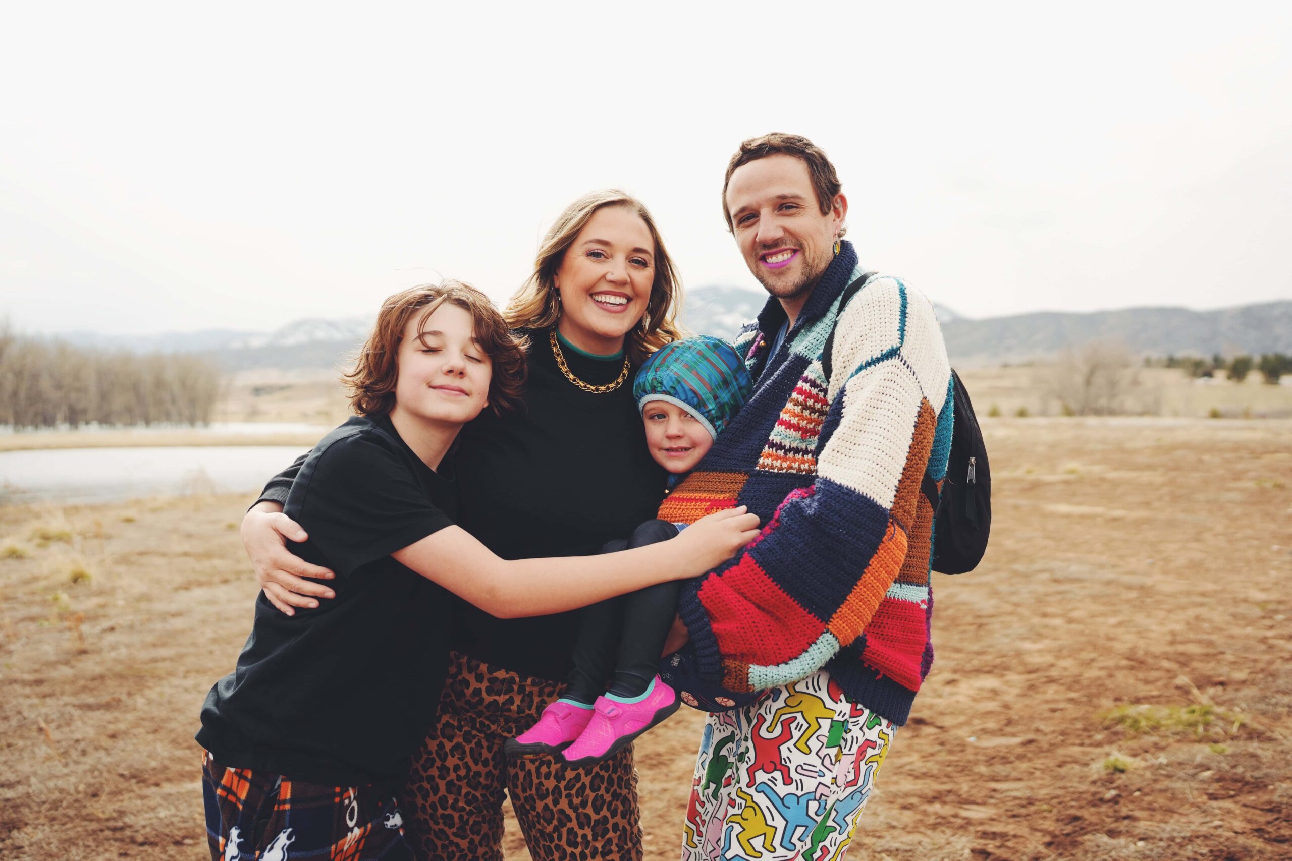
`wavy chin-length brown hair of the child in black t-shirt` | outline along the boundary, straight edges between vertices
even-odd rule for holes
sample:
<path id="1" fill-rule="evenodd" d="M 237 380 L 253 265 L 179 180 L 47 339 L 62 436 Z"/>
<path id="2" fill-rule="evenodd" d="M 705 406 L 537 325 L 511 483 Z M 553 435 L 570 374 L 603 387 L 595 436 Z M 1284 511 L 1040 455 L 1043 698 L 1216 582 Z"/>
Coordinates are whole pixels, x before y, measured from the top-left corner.
<path id="1" fill-rule="evenodd" d="M 475 341 L 492 365 L 488 403 L 494 412 L 503 413 L 519 401 L 527 368 L 525 350 L 528 345 L 506 327 L 503 315 L 487 296 L 470 284 L 446 279 L 439 284 L 411 287 L 381 303 L 377 321 L 359 350 L 354 370 L 341 377 L 354 412 L 360 416 L 390 412 L 395 405 L 395 382 L 399 380 L 395 356 L 399 354 L 404 327 L 413 314 L 420 314 L 417 337 L 424 337 L 421 329 L 426 325 L 426 318 L 444 302 L 472 315 Z"/>

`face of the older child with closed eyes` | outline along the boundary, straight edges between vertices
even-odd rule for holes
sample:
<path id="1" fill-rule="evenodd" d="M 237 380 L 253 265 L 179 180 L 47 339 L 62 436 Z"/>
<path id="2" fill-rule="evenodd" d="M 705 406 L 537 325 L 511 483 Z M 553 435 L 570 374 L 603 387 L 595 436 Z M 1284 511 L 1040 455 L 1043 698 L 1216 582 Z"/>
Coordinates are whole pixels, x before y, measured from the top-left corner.
<path id="1" fill-rule="evenodd" d="M 425 320 L 412 315 L 397 361 L 395 409 L 410 416 L 463 425 L 488 403 L 492 363 L 466 309 L 444 302 Z"/>

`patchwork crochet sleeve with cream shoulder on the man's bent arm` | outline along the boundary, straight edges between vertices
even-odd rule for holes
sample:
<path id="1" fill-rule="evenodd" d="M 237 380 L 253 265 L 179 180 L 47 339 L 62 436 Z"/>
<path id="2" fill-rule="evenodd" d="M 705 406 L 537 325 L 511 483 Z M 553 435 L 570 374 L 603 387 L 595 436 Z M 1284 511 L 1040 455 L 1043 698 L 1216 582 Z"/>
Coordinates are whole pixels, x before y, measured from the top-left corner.
<path id="1" fill-rule="evenodd" d="M 897 279 L 871 279 L 840 318 L 832 363 L 814 483 L 680 604 L 700 673 L 731 691 L 814 673 L 902 590 L 951 373 L 933 306 Z M 925 611 L 911 612 L 922 633 Z"/>

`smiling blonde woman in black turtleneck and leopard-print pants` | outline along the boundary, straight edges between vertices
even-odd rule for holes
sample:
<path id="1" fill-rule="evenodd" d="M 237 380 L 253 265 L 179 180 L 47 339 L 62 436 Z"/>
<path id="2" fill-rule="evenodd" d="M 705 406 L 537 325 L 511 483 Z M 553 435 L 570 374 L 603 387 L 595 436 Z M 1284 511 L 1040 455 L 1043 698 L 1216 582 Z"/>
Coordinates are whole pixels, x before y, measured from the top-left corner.
<path id="1" fill-rule="evenodd" d="M 650 457 L 630 377 L 678 337 L 681 287 L 650 213 L 621 191 L 572 203 L 504 316 L 528 336 L 523 405 L 460 435 L 459 524 L 503 559 L 588 555 L 655 516 L 665 472 Z M 257 507 L 287 496 L 295 467 Z M 329 598 L 286 554 L 292 524 L 248 514 L 244 543 L 266 596 L 289 611 Z M 426 858 L 501 860 L 504 794 L 535 861 L 642 857 L 632 747 L 594 767 L 508 763 L 503 742 L 562 692 L 578 633 L 568 613 L 500 620 L 461 603 L 438 713 L 401 798 Z"/>

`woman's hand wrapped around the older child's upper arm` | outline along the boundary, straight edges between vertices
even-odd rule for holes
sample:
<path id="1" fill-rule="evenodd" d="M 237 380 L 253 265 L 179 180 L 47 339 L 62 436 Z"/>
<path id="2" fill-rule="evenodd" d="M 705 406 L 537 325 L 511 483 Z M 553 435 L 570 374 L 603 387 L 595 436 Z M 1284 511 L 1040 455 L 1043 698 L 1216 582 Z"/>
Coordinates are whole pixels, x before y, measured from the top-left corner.
<path id="1" fill-rule="evenodd" d="M 260 502 L 243 518 L 243 549 L 256 569 L 256 582 L 265 590 L 265 598 L 295 616 L 295 607 L 314 608 L 315 598 L 336 598 L 336 593 L 323 583 L 311 583 L 305 577 L 332 580 L 327 568 L 311 565 L 287 549 L 288 541 L 301 542 L 309 536 L 300 524 L 282 512 L 276 502 Z"/>

